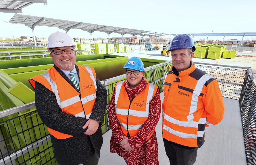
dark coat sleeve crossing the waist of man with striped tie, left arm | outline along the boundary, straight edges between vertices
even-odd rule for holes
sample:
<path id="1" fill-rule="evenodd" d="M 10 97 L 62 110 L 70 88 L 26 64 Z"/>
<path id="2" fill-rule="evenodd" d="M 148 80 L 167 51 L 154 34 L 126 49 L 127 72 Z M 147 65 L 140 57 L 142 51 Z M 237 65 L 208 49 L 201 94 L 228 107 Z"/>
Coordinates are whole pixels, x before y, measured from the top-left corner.
<path id="1" fill-rule="evenodd" d="M 35 85 L 36 110 L 47 127 L 73 136 L 84 133 L 87 130 L 87 127 L 82 129 L 87 121 L 85 118 L 62 112 L 55 94 L 39 82 L 36 82 Z"/>

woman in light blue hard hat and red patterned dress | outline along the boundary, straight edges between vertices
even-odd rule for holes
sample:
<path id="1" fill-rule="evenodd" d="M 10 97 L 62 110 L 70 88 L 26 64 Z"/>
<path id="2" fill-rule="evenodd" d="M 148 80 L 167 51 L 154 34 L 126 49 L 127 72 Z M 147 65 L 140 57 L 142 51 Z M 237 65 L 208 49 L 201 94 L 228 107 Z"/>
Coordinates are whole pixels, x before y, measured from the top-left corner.
<path id="1" fill-rule="evenodd" d="M 110 152 L 122 156 L 128 165 L 158 164 L 159 89 L 146 81 L 138 57 L 130 58 L 124 68 L 127 79 L 116 83 L 108 108 L 113 133 Z"/>

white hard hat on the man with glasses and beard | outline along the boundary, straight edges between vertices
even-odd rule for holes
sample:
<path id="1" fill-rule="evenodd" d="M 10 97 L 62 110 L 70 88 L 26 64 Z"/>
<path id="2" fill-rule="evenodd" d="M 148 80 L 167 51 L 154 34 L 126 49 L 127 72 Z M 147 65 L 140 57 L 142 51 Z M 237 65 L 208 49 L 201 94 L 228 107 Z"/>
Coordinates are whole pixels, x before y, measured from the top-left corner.
<path id="1" fill-rule="evenodd" d="M 48 37 L 48 48 L 57 48 L 63 46 L 74 46 L 74 42 L 68 34 L 55 32 Z"/>

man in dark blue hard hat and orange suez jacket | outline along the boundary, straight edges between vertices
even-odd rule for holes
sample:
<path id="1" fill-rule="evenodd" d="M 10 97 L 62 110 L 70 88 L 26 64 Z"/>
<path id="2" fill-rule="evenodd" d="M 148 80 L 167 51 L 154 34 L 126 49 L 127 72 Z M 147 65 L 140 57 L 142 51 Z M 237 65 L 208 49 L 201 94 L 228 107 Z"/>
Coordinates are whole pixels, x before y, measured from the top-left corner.
<path id="1" fill-rule="evenodd" d="M 191 165 L 205 140 L 205 127 L 220 123 L 224 103 L 218 82 L 195 67 L 193 40 L 185 34 L 170 43 L 172 67 L 164 80 L 163 142 L 170 164 Z"/>

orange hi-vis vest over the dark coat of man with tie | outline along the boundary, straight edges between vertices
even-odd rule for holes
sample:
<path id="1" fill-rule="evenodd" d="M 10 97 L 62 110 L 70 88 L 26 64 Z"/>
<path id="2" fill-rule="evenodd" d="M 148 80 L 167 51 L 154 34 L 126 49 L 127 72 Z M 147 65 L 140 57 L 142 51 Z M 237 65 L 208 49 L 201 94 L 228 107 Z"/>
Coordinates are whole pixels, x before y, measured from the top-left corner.
<path id="1" fill-rule="evenodd" d="M 54 68 L 45 73 L 29 79 L 35 88 L 35 82 L 39 82 L 52 91 L 62 112 L 89 119 L 96 99 L 96 73 L 92 67 L 78 66 L 80 93 L 76 91 Z M 49 133 L 57 139 L 66 139 L 72 135 L 64 134 L 48 127 Z"/>

